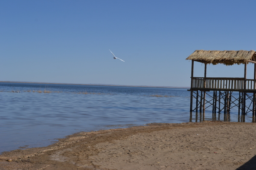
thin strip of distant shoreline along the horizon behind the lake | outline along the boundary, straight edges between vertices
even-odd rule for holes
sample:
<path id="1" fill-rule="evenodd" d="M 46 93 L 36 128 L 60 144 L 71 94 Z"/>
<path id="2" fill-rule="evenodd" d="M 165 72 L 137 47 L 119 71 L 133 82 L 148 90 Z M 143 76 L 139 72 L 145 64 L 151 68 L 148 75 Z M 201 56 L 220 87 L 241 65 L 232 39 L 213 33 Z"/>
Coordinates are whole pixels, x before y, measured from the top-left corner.
<path id="1" fill-rule="evenodd" d="M 150 85 L 108 85 L 108 84 L 75 84 L 75 83 L 50 83 L 50 82 L 12 82 L 0 81 L 6 83 L 26 83 L 26 84 L 52 84 L 52 85 L 98 85 L 98 86 L 117 86 L 117 87 L 145 87 L 145 88 L 190 88 L 190 87 L 172 87 L 172 86 L 150 86 Z"/>

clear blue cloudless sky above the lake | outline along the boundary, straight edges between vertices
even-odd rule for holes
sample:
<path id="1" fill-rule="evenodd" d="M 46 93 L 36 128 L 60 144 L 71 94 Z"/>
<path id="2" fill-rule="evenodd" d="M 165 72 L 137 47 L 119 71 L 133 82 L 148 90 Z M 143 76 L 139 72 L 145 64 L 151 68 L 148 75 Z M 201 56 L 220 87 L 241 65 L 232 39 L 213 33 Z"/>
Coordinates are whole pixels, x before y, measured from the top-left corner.
<path id="1" fill-rule="evenodd" d="M 256 50 L 254 0 L 2 0 L 0 81 L 190 86 L 195 50 Z M 123 59 L 113 59 L 109 49 Z M 209 65 L 209 77 L 243 77 Z M 195 64 L 195 76 L 204 65 Z M 253 77 L 253 64 L 248 77 Z"/>

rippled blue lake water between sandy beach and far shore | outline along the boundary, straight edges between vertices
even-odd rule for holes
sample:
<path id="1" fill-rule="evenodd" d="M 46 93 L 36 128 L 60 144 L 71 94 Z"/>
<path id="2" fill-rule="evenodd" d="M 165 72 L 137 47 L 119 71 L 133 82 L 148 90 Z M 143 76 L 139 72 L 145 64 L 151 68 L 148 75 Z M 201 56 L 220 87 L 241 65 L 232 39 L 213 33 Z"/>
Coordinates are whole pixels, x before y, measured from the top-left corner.
<path id="1" fill-rule="evenodd" d="M 227 119 L 211 109 L 189 112 L 190 92 L 178 88 L 0 83 L 0 153 L 43 147 L 67 135 L 153 122 Z M 19 92 L 19 93 L 16 93 Z M 250 114 L 251 115 L 251 114 Z M 252 117 L 245 122 L 252 122 Z"/>

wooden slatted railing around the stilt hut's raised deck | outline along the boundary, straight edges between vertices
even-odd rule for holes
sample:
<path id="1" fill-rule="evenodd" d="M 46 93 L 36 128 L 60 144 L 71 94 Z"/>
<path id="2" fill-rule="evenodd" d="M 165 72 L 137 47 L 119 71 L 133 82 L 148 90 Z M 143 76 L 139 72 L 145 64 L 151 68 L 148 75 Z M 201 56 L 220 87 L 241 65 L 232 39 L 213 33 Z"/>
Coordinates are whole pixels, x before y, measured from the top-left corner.
<path id="1" fill-rule="evenodd" d="M 192 88 L 205 89 L 225 89 L 225 90 L 256 90 L 256 80 L 246 79 L 244 88 L 244 78 L 225 77 L 193 77 Z"/>

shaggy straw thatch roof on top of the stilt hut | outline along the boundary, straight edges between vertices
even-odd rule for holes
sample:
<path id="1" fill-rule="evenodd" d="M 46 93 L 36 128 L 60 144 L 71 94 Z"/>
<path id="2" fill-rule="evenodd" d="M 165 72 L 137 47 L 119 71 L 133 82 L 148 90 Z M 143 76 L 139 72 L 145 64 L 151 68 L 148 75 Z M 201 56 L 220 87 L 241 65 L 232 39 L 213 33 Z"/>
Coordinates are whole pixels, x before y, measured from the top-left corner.
<path id="1" fill-rule="evenodd" d="M 207 64 L 224 64 L 224 65 L 233 65 L 233 64 L 244 64 L 248 63 L 251 60 L 256 58 L 256 52 L 251 51 L 205 51 L 205 50 L 196 50 L 188 58 L 194 61 L 203 62 Z"/>

